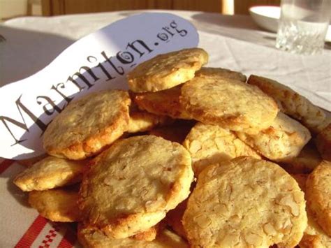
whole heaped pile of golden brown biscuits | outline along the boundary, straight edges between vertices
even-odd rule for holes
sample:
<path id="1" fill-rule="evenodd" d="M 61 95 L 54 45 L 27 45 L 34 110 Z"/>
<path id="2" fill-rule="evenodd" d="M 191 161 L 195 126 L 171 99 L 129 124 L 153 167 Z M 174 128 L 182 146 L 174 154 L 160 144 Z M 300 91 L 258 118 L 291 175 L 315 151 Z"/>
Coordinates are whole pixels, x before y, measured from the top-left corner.
<path id="1" fill-rule="evenodd" d="M 191 48 L 73 101 L 15 177 L 84 247 L 331 247 L 331 124 L 279 82 Z"/>

